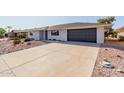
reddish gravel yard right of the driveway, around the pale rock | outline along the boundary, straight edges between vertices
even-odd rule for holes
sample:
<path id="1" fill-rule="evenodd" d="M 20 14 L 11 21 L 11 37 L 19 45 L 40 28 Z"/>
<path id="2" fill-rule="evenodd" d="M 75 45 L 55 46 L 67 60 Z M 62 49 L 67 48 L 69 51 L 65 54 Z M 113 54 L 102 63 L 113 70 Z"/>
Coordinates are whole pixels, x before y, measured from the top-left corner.
<path id="1" fill-rule="evenodd" d="M 105 68 L 100 62 L 110 61 L 114 68 Z M 124 76 L 124 42 L 106 41 L 98 53 L 93 77 L 123 77 Z"/>

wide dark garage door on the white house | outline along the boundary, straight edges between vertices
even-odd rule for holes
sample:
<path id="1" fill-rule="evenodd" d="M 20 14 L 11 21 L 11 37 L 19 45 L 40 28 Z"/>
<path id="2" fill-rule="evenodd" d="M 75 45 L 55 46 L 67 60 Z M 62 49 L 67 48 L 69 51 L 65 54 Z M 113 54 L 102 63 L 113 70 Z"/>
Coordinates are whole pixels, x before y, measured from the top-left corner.
<path id="1" fill-rule="evenodd" d="M 68 41 L 96 43 L 96 28 L 67 30 Z"/>

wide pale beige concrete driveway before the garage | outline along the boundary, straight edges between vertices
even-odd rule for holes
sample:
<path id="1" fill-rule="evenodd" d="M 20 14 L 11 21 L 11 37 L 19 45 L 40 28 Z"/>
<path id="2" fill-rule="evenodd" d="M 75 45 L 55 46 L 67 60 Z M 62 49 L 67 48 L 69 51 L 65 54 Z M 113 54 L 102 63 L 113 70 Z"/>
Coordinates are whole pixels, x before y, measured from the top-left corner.
<path id="1" fill-rule="evenodd" d="M 99 45 L 49 43 L 0 56 L 0 76 L 91 76 Z"/>

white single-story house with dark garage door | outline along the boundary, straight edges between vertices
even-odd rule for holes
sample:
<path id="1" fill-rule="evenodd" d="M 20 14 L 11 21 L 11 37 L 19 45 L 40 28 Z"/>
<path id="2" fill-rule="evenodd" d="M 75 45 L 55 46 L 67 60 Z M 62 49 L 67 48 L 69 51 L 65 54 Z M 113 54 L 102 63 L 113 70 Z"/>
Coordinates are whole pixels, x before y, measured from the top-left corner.
<path id="1" fill-rule="evenodd" d="M 104 43 L 104 28 L 111 24 L 102 23 L 68 23 L 55 26 L 14 30 L 14 33 L 27 33 L 35 40 L 60 40 Z"/>

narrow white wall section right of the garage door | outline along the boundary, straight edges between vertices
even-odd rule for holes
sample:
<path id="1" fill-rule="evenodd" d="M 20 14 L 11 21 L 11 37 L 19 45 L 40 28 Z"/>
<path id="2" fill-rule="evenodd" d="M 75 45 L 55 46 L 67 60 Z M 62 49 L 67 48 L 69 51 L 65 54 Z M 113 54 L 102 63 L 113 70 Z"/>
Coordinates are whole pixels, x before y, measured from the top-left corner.
<path id="1" fill-rule="evenodd" d="M 104 43 L 104 28 L 97 28 L 97 43 Z"/>

